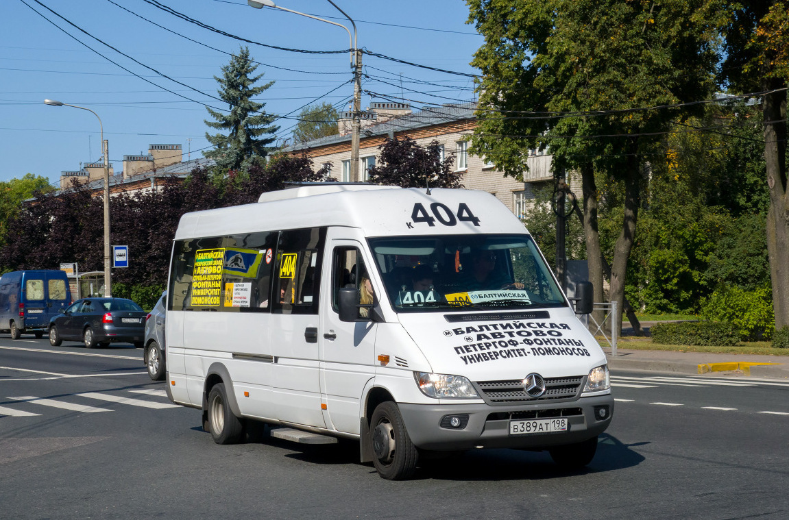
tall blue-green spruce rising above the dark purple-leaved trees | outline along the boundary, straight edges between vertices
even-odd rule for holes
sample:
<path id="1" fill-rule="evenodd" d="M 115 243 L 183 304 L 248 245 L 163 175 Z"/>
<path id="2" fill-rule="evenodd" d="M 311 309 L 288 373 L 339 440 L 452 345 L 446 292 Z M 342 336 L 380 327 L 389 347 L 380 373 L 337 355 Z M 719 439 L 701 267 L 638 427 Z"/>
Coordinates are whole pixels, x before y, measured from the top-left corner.
<path id="1" fill-rule="evenodd" d="M 213 129 L 226 130 L 227 134 L 205 134 L 208 142 L 215 148 L 203 155 L 214 159 L 219 170 L 247 170 L 271 151 L 271 143 L 279 126 L 273 125 L 275 118 L 263 110 L 266 103 L 252 101 L 252 96 L 260 95 L 274 84 L 255 86 L 263 74 L 252 76 L 257 69 L 249 56 L 249 47 L 230 58 L 230 63 L 222 67 L 222 77 L 214 77 L 219 82 L 219 97 L 228 106 L 228 114 L 207 108 L 215 121 L 205 120 Z"/>

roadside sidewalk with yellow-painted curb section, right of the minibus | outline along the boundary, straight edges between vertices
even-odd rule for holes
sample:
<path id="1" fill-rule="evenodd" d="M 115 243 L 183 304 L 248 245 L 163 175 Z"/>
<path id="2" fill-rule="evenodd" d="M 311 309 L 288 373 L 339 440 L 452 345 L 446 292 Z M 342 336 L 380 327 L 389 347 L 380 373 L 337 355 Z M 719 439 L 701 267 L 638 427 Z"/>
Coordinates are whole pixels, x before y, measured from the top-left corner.
<path id="1" fill-rule="evenodd" d="M 655 322 L 641 322 L 645 335 Z M 633 336 L 627 321 L 622 324 L 622 335 Z M 608 357 L 608 367 L 614 370 L 653 370 L 681 374 L 708 374 L 716 376 L 751 376 L 789 380 L 789 356 L 758 356 L 754 354 L 712 354 L 705 352 L 675 352 L 670 350 L 616 349 L 602 339 L 603 351 Z"/>

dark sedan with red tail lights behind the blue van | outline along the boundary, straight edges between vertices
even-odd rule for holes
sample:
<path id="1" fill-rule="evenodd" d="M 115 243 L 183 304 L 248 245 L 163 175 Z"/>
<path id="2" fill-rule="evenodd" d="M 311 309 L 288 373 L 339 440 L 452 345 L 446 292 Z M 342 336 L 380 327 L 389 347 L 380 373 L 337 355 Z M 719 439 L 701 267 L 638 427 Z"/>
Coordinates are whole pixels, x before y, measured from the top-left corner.
<path id="1" fill-rule="evenodd" d="M 110 342 L 143 346 L 145 311 L 125 298 L 83 298 L 75 301 L 49 324 L 50 344 L 84 342 L 89 349 Z"/>

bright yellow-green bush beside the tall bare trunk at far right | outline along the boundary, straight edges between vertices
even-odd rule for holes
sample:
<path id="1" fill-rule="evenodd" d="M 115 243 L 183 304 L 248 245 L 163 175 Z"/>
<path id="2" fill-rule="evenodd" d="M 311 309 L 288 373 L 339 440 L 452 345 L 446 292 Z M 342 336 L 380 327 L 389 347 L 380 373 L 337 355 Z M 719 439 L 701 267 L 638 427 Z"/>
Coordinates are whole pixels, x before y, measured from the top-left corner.
<path id="1" fill-rule="evenodd" d="M 776 330 L 772 311 L 772 289 L 742 290 L 739 287 L 716 289 L 701 301 L 705 320 L 735 324 L 742 341 L 768 340 Z"/>

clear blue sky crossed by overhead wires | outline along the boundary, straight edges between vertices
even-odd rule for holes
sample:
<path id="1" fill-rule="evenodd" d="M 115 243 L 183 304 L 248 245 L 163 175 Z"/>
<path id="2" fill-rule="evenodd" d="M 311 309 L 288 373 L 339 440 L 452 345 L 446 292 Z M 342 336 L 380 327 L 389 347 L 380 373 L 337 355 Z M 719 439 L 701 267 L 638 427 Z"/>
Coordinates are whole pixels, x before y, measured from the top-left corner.
<path id="1" fill-rule="evenodd" d="M 226 53 L 237 51 L 242 43 L 184 21 L 157 3 L 220 31 L 268 45 L 311 51 L 349 47 L 342 28 L 279 9 L 252 9 L 245 0 L 2 0 L 0 181 L 32 173 L 57 185 L 62 170 L 79 170 L 80 163 L 100 159 L 95 116 L 87 110 L 49 107 L 43 104 L 45 98 L 99 114 L 116 172 L 122 170 L 123 155 L 147 153 L 148 144 L 181 144 L 185 159 L 189 150 L 192 159 L 202 156 L 200 150 L 210 145 L 204 137 L 208 113 L 201 103 L 222 107 L 208 97 L 216 95 L 214 76 L 221 75 L 220 68 L 229 62 Z M 468 8 L 462 0 L 335 3 L 357 22 L 359 47 L 438 69 L 475 72 L 469 61 L 483 39 L 466 24 Z M 326 0 L 282 0 L 278 5 L 350 27 Z M 349 54 L 248 45 L 252 58 L 264 64 L 257 72 L 265 73 L 264 80 L 276 81 L 259 99 L 268 113 L 294 112 L 289 116 L 294 117 L 299 107 L 319 97 L 346 109 L 353 95 Z M 412 107 L 419 108 L 424 103 L 474 97 L 473 80 L 467 76 L 368 55 L 363 64 L 368 77 L 362 89 L 379 95 L 365 94 L 363 108 L 371 101 L 399 98 L 410 99 Z M 336 90 L 327 94 L 332 89 Z M 278 137 L 285 138 L 296 121 L 283 118 L 277 124 L 282 127 Z"/>

